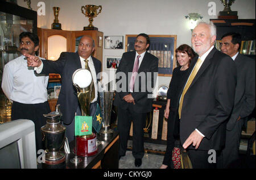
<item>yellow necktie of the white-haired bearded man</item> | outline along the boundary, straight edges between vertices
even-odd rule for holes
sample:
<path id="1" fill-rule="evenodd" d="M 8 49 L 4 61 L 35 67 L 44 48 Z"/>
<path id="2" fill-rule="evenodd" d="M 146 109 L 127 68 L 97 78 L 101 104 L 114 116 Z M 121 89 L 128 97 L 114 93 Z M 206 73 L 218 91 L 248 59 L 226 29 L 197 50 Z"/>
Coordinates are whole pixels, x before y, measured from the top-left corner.
<path id="1" fill-rule="evenodd" d="M 184 95 L 187 93 L 188 87 L 191 85 L 193 79 L 195 78 L 196 73 L 198 72 L 199 68 L 201 67 L 201 64 L 202 64 L 202 61 L 199 58 L 196 62 L 195 68 L 192 70 L 192 72 L 188 78 L 187 84 L 185 85 L 185 87 L 183 89 L 183 92 L 182 92 L 181 98 L 180 98 L 180 104 L 179 104 L 179 118 L 181 116 L 181 108 L 182 108 L 182 104 L 183 104 Z"/>

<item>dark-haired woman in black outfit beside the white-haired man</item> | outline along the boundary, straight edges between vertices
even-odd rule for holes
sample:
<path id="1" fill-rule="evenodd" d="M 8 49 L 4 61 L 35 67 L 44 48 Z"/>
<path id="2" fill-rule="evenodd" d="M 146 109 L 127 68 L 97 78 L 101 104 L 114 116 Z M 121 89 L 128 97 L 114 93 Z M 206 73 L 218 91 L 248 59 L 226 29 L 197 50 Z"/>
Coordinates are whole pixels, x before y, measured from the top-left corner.
<path id="1" fill-rule="evenodd" d="M 195 57 L 193 49 L 187 45 L 180 45 L 176 49 L 176 59 L 179 66 L 174 69 L 172 73 L 172 79 L 167 91 L 167 104 L 166 110 L 164 110 L 164 117 L 167 121 L 167 148 L 164 155 L 163 164 L 160 169 L 175 168 L 172 161 L 172 150 L 175 143 L 179 140 L 179 93 L 184 87 L 185 78 L 187 78 L 188 69 L 191 60 Z"/>

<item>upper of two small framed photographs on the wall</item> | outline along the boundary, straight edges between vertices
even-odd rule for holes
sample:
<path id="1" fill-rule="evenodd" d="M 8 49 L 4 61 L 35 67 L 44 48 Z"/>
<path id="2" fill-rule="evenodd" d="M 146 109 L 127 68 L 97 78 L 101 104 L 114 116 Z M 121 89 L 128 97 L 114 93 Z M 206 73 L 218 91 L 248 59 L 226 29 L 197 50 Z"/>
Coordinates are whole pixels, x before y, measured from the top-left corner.
<path id="1" fill-rule="evenodd" d="M 123 36 L 104 36 L 105 49 L 123 49 Z"/>

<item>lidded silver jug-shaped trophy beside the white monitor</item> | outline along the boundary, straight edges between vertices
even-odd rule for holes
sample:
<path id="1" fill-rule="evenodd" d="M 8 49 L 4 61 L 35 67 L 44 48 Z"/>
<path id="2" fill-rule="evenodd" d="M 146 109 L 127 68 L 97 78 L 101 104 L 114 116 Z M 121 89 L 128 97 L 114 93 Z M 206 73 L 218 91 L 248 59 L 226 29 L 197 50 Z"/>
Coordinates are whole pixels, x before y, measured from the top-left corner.
<path id="1" fill-rule="evenodd" d="M 65 141 L 66 128 L 60 123 L 61 112 L 60 104 L 57 104 L 56 111 L 44 114 L 47 118 L 46 125 L 41 128 L 43 141 L 46 144 L 46 160 L 56 161 L 63 158 L 65 155 L 59 150 Z"/>

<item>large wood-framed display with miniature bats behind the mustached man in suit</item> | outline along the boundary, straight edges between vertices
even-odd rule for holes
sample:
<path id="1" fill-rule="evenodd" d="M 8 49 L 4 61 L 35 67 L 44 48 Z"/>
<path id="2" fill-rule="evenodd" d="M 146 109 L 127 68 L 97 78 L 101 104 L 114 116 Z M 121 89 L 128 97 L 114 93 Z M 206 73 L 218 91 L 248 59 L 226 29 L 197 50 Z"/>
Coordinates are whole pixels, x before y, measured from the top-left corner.
<path id="1" fill-rule="evenodd" d="M 175 50 L 177 35 L 148 35 L 150 47 L 148 53 L 158 57 L 158 76 L 172 76 L 176 66 Z M 137 35 L 125 36 L 125 51 L 134 51 L 134 43 Z"/>

